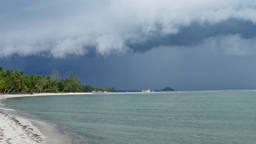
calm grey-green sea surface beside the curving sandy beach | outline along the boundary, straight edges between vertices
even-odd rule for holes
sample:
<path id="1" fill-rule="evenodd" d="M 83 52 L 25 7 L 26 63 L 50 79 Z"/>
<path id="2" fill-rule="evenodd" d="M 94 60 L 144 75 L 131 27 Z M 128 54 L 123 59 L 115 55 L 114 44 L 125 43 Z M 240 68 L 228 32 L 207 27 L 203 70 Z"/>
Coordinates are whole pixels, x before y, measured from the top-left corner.
<path id="1" fill-rule="evenodd" d="M 80 144 L 256 144 L 256 90 L 36 96 L 1 103 L 55 124 Z"/>

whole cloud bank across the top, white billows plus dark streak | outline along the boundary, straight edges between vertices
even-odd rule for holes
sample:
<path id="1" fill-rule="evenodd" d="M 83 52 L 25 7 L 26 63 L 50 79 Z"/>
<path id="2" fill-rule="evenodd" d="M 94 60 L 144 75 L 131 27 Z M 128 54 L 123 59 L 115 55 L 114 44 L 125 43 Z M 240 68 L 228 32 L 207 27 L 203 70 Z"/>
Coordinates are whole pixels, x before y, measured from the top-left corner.
<path id="1" fill-rule="evenodd" d="M 159 46 L 231 46 L 220 38 L 255 44 L 254 0 L 24 0 L 0 1 L 0 6 L 1 58 L 108 56 Z M 237 49 L 243 54 L 251 51 Z"/>

